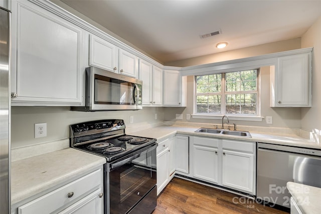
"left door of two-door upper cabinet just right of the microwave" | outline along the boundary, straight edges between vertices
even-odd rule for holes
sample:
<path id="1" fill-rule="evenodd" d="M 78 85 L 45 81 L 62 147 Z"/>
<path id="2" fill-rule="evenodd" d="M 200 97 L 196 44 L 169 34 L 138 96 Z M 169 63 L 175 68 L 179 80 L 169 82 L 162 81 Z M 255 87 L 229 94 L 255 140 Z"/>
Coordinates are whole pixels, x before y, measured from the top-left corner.
<path id="1" fill-rule="evenodd" d="M 139 79 L 142 81 L 142 105 L 152 105 L 152 65 L 139 60 Z"/>

